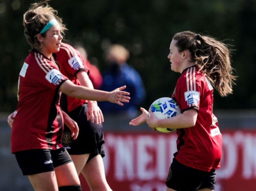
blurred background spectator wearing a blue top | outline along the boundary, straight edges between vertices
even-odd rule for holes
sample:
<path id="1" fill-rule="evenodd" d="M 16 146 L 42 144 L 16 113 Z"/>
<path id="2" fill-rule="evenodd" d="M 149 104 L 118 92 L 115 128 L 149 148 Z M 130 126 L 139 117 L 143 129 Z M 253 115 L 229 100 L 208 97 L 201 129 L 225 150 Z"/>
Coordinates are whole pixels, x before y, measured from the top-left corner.
<path id="1" fill-rule="evenodd" d="M 127 60 L 129 51 L 119 44 L 113 44 L 106 52 L 108 69 L 102 73 L 103 82 L 100 90 L 113 90 L 119 86 L 126 85 L 126 91 L 130 92 L 130 102 L 119 107 L 107 102 L 98 103 L 103 113 L 127 112 L 129 115 L 136 114 L 138 106 L 145 100 L 145 87 L 141 76 Z"/>

